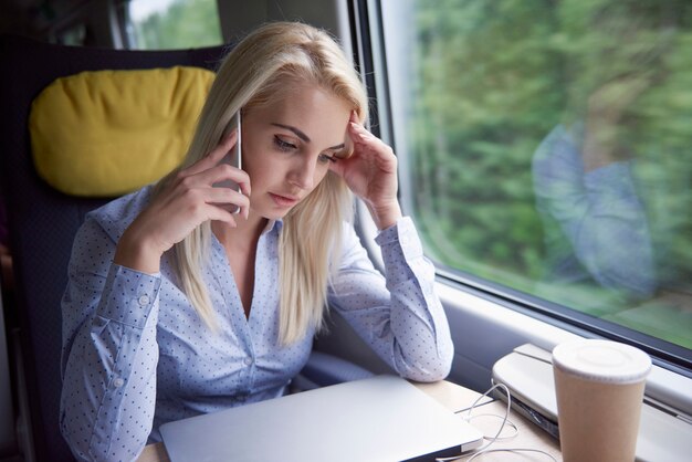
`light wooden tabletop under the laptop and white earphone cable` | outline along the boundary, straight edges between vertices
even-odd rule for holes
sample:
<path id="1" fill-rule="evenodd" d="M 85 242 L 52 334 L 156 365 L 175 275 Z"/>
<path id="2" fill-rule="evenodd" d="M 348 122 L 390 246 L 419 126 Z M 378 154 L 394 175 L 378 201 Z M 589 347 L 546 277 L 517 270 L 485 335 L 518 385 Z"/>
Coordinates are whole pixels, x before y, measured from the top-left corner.
<path id="1" fill-rule="evenodd" d="M 461 387 L 459 385 L 452 384 L 450 381 L 438 381 L 434 384 L 413 384 L 420 390 L 424 391 L 448 409 L 454 412 L 463 412 L 468 411 L 468 409 L 473 405 L 473 402 L 481 397 L 480 393 L 470 390 L 468 388 Z M 481 401 L 481 405 L 476 405 L 476 408 L 473 410 L 472 416 L 476 416 L 472 420 L 472 424 L 481 430 L 487 437 L 494 437 L 497 432 L 499 426 L 501 423 L 501 419 L 493 417 L 483 417 L 481 414 L 497 414 L 504 416 L 506 409 L 506 403 L 504 401 L 497 401 L 491 398 L 484 398 Z M 541 430 L 538 427 L 530 422 L 524 417 L 520 416 L 515 411 L 510 412 L 508 418 L 514 424 L 516 424 L 518 429 L 518 433 L 515 438 L 508 440 L 497 440 L 493 443 L 492 448 L 531 448 L 531 449 L 539 449 L 542 451 L 547 452 L 553 455 L 555 460 L 562 461 L 562 455 L 559 452 L 559 444 L 557 440 L 547 434 L 545 431 Z M 503 434 L 508 430 L 505 428 L 503 430 Z M 520 453 L 520 455 L 508 455 L 506 452 L 493 452 L 483 454 L 479 456 L 479 462 L 485 461 L 506 461 L 510 460 L 521 460 L 521 461 L 536 461 L 536 462 L 545 462 L 551 459 L 545 454 L 539 453 Z M 460 460 L 464 460 L 461 458 Z M 169 462 L 170 459 L 166 453 L 166 448 L 162 443 L 154 443 L 148 444 L 137 462 Z"/>

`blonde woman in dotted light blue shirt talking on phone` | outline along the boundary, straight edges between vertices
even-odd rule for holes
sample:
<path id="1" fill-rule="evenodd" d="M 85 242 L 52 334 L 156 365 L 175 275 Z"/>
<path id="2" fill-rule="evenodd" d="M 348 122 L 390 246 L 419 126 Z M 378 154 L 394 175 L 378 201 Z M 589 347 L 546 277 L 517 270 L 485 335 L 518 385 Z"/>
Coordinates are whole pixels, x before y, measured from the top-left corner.
<path id="1" fill-rule="evenodd" d="M 164 422 L 283 395 L 327 303 L 401 376 L 447 376 L 434 271 L 366 111 L 326 33 L 268 24 L 222 62 L 184 165 L 87 217 L 63 300 L 61 428 L 77 458 L 129 460 Z M 221 161 L 237 112 L 243 170 Z M 380 229 L 386 279 L 347 221 L 349 190 Z"/>

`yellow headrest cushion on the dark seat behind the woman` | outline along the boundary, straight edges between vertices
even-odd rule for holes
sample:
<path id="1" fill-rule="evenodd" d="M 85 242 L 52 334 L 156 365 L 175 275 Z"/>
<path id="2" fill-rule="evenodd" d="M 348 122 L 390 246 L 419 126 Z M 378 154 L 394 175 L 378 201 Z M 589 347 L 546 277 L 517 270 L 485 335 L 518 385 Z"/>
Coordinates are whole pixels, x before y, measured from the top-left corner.
<path id="1" fill-rule="evenodd" d="M 88 197 L 158 180 L 182 160 L 213 75 L 171 67 L 57 78 L 29 117 L 39 175 L 62 192 Z"/>

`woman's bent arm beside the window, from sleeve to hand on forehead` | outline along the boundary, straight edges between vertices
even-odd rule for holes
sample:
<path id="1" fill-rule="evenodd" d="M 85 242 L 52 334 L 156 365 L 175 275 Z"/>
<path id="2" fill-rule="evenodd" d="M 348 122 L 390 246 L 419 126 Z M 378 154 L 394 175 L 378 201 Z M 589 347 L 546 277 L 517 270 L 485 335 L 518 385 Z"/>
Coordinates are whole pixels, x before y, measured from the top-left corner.
<path id="1" fill-rule="evenodd" d="M 423 256 L 413 222 L 401 217 L 397 158 L 355 115 L 348 127 L 354 153 L 331 168 L 363 199 L 380 230 L 376 241 L 386 277 L 373 267 L 348 227 L 331 302 L 401 376 L 421 381 L 443 379 L 451 368 L 453 346 L 434 293 L 434 266 Z"/>

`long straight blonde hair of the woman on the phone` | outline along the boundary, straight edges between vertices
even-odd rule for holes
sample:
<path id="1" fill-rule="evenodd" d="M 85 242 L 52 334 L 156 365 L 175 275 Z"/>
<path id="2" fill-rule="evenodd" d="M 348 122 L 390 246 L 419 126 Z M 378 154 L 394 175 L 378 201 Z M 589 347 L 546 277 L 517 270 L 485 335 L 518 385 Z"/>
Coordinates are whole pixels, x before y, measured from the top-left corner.
<path id="1" fill-rule="evenodd" d="M 335 40 L 303 23 L 263 25 L 242 40 L 221 62 L 182 165 L 162 186 L 207 156 L 227 133 L 238 111 L 249 112 L 286 97 L 293 85 L 313 84 L 346 101 L 360 120 L 367 118 L 363 83 Z M 344 221 L 353 214 L 350 192 L 328 172 L 284 218 L 279 243 L 280 329 L 282 344 L 303 338 L 323 326 L 329 272 L 337 261 Z M 216 329 L 216 314 L 202 279 L 209 261 L 211 225 L 199 225 L 170 253 L 179 283 L 200 317 Z"/>

